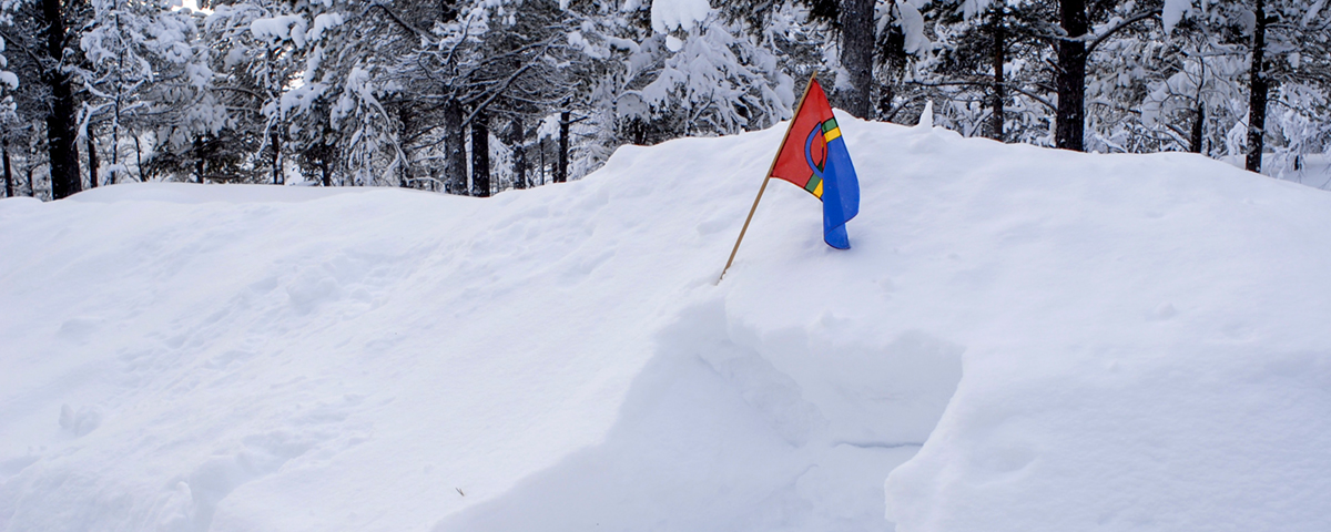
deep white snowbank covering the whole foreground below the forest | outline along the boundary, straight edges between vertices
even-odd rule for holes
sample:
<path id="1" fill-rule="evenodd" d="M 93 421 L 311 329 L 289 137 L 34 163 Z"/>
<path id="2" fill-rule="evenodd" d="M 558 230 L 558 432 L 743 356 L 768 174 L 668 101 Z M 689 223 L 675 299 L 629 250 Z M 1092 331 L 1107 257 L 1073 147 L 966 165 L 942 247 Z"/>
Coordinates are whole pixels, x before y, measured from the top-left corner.
<path id="1" fill-rule="evenodd" d="M 839 120 L 720 285 L 780 128 L 5 200 L 0 529 L 1331 529 L 1331 193 Z"/>

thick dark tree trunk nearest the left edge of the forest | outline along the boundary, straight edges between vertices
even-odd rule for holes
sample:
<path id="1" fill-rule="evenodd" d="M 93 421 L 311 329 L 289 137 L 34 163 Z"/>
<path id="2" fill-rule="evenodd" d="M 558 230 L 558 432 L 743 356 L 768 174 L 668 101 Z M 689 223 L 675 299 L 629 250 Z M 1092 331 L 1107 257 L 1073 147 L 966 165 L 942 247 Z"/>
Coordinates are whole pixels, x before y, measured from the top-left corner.
<path id="1" fill-rule="evenodd" d="M 51 156 L 51 198 L 60 200 L 83 190 L 79 149 L 75 146 L 75 104 L 69 76 L 61 72 L 65 51 L 65 23 L 60 0 L 41 0 L 47 25 L 47 53 L 56 63 L 43 73 L 51 88 L 51 114 L 47 114 L 47 141 Z"/>

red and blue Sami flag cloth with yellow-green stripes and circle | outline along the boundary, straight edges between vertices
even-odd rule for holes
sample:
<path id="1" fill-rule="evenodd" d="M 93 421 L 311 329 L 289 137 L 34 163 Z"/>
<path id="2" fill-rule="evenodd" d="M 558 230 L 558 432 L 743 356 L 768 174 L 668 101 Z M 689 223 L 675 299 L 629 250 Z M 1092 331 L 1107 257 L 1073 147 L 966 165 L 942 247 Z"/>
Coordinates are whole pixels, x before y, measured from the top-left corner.
<path id="1" fill-rule="evenodd" d="M 851 249 L 845 222 L 860 214 L 860 180 L 827 93 L 815 78 L 795 110 L 795 120 L 772 164 L 771 177 L 789 181 L 823 200 L 823 241 Z"/>

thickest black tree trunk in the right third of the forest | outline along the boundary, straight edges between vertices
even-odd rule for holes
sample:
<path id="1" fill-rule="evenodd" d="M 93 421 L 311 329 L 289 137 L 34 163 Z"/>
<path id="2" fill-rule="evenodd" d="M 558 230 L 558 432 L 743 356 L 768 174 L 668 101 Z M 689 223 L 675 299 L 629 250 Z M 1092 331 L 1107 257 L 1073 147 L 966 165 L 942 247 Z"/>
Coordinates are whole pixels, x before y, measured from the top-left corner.
<path id="1" fill-rule="evenodd" d="M 1058 40 L 1058 116 L 1054 145 L 1074 152 L 1085 150 L 1086 124 L 1086 0 L 1059 0 L 1065 39 Z"/>

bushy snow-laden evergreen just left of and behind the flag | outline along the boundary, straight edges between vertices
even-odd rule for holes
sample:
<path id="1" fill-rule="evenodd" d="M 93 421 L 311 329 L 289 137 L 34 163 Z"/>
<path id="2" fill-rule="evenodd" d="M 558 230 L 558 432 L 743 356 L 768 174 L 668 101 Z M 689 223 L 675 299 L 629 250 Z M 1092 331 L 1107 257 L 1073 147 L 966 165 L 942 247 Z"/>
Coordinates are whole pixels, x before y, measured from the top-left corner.
<path id="1" fill-rule="evenodd" d="M 590 27 L 588 27 L 590 28 Z M 595 33 L 595 37 L 590 35 Z M 592 149 L 760 129 L 791 116 L 796 81 L 776 33 L 705 5 L 634 5 L 572 41 L 600 59 L 586 82 Z M 587 152 L 587 162 L 608 150 Z"/>

